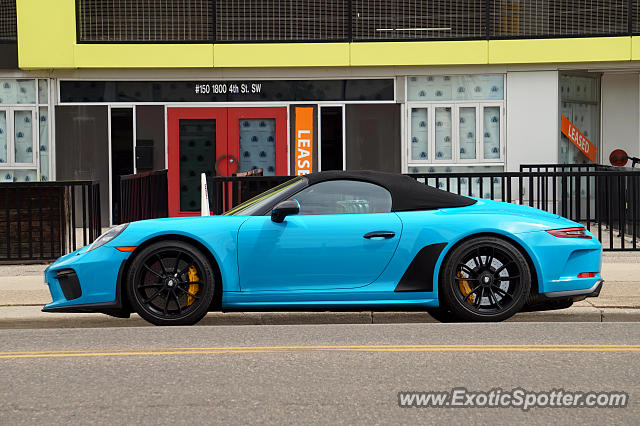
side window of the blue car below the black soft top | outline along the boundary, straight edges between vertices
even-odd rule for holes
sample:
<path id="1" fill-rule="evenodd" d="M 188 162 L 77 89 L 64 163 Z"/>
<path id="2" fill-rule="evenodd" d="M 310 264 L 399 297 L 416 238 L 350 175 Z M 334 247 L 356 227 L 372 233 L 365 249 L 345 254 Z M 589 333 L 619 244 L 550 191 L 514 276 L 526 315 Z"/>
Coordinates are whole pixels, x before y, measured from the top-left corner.
<path id="1" fill-rule="evenodd" d="M 355 180 L 330 180 L 311 185 L 292 199 L 300 214 L 388 213 L 391 194 L 381 186 Z"/>

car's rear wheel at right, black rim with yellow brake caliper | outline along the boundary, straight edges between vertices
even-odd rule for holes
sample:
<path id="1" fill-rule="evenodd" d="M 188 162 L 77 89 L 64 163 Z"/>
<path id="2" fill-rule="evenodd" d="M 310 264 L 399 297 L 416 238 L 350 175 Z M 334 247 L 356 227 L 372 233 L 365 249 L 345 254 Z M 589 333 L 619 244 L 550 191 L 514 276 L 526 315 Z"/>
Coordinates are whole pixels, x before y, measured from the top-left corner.
<path id="1" fill-rule="evenodd" d="M 519 312 L 531 288 L 527 259 L 495 237 L 465 241 L 441 268 L 441 300 L 462 321 L 504 321 Z"/>

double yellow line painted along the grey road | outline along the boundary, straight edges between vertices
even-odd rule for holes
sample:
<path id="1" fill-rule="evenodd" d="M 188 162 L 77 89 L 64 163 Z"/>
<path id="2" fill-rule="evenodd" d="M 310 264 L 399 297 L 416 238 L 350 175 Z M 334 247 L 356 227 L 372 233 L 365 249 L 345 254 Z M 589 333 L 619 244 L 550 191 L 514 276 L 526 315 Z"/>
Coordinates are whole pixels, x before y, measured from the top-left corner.
<path id="1" fill-rule="evenodd" d="M 209 355 L 274 352 L 640 352 L 640 345 L 351 345 L 231 346 L 211 348 L 110 349 L 0 352 L 0 359 L 149 355 Z"/>

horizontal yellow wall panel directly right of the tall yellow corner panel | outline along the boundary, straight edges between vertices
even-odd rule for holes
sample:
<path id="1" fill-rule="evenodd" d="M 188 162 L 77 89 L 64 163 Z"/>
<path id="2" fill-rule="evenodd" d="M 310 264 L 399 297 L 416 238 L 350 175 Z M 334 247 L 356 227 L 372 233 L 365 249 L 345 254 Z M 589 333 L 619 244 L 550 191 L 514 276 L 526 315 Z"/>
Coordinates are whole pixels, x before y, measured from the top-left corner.
<path id="1" fill-rule="evenodd" d="M 77 68 L 211 68 L 211 44 L 76 44 Z"/>

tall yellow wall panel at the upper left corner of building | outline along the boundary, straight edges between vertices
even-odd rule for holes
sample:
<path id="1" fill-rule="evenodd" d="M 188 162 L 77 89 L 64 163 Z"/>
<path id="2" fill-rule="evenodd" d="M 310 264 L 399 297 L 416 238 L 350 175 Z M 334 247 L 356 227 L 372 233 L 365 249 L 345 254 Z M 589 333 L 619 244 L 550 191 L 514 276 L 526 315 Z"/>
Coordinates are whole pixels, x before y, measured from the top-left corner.
<path id="1" fill-rule="evenodd" d="M 74 0 L 17 0 L 18 65 L 23 69 L 73 68 Z"/>

